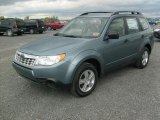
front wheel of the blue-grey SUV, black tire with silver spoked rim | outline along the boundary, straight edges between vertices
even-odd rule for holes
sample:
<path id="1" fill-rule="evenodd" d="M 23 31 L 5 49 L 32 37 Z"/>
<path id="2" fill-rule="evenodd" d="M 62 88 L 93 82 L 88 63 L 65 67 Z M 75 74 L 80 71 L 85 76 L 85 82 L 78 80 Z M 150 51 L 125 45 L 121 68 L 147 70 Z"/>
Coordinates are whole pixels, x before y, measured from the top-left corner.
<path id="1" fill-rule="evenodd" d="M 90 79 L 88 78 L 87 80 L 84 78 L 85 81 L 90 82 L 90 83 L 87 83 L 87 85 L 85 85 L 85 83 L 80 84 L 80 78 L 83 77 L 84 72 L 88 72 L 88 75 L 89 75 L 89 73 L 90 73 L 90 75 L 91 74 L 93 75 L 93 73 L 94 73 L 93 79 L 92 79 L 92 77 Z M 85 75 L 84 75 L 84 77 L 85 77 Z M 72 94 L 74 94 L 75 96 L 79 96 L 79 97 L 85 97 L 85 96 L 91 94 L 91 92 L 96 87 L 97 79 L 98 79 L 98 73 L 97 73 L 96 68 L 90 63 L 83 63 L 75 73 L 74 80 L 73 80 L 73 83 L 71 86 Z M 83 88 L 81 88 L 81 85 L 83 85 L 83 87 L 85 85 L 86 88 L 88 87 L 88 91 L 87 90 L 85 92 L 82 91 Z"/>

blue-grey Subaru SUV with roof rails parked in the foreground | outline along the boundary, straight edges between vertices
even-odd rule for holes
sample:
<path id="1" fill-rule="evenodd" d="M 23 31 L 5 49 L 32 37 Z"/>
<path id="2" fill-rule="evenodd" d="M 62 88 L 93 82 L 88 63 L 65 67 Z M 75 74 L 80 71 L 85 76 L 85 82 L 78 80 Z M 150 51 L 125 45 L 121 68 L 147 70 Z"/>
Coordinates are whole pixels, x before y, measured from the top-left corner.
<path id="1" fill-rule="evenodd" d="M 54 36 L 19 48 L 13 66 L 34 82 L 70 85 L 74 95 L 84 97 L 109 70 L 145 68 L 153 45 L 153 30 L 141 13 L 87 12 Z"/>

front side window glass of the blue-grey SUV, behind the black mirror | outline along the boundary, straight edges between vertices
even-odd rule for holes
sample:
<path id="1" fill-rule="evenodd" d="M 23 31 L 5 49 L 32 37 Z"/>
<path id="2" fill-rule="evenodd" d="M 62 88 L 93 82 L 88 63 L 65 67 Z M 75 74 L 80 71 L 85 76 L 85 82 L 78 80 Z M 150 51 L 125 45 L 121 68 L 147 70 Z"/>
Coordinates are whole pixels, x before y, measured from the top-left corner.
<path id="1" fill-rule="evenodd" d="M 124 19 L 116 18 L 114 19 L 108 29 L 108 34 L 118 33 L 119 37 L 125 35 Z"/>

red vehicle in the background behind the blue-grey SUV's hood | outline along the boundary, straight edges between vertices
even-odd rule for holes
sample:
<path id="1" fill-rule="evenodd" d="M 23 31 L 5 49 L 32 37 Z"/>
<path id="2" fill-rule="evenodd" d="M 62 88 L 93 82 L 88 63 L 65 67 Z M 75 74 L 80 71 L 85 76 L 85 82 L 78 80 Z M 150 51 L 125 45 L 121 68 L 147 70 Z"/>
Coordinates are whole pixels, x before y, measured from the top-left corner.
<path id="1" fill-rule="evenodd" d="M 46 23 L 46 28 L 48 30 L 57 30 L 62 28 L 64 25 L 65 25 L 64 22 L 49 22 L 49 23 Z"/>

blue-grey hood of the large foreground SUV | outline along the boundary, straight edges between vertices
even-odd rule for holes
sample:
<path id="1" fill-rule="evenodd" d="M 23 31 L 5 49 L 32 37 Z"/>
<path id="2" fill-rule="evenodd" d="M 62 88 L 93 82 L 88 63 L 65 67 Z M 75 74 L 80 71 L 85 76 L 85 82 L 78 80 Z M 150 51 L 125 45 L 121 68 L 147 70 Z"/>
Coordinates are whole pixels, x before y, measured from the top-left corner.
<path id="1" fill-rule="evenodd" d="M 32 55 L 53 55 L 79 48 L 90 39 L 50 36 L 24 45 L 19 51 Z"/>

